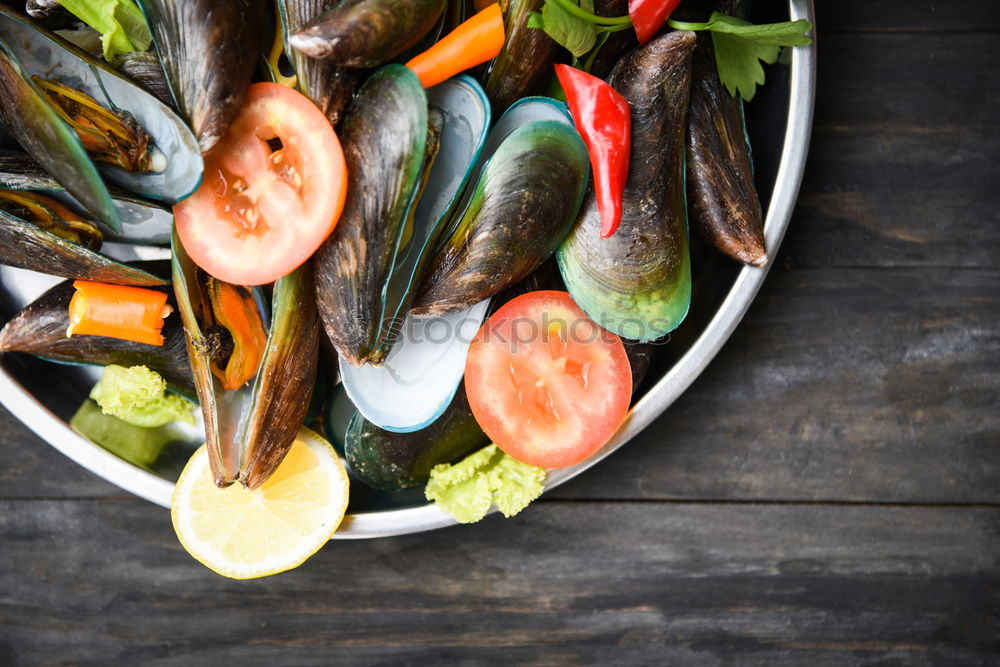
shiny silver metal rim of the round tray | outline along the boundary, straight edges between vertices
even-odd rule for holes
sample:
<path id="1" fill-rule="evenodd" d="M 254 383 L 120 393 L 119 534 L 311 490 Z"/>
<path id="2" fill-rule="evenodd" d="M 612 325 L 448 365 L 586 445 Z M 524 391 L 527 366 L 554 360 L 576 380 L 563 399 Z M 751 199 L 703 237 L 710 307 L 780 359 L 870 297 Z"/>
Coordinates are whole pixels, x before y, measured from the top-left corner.
<path id="1" fill-rule="evenodd" d="M 791 20 L 815 26 L 812 0 L 789 0 Z M 774 189 L 765 219 L 766 247 L 771 257 L 762 268 L 744 266 L 724 301 L 691 348 L 632 407 L 618 433 L 584 463 L 550 472 L 546 489 L 576 477 L 620 448 L 659 417 L 708 366 L 743 319 L 767 276 L 788 228 L 805 169 L 815 99 L 816 41 L 792 49 L 788 123 Z M 0 403 L 40 438 L 92 473 L 163 507 L 170 507 L 174 485 L 142 470 L 77 435 L 58 416 L 0 367 Z M 418 533 L 455 525 L 435 505 L 349 514 L 334 539 L 368 539 Z"/>

